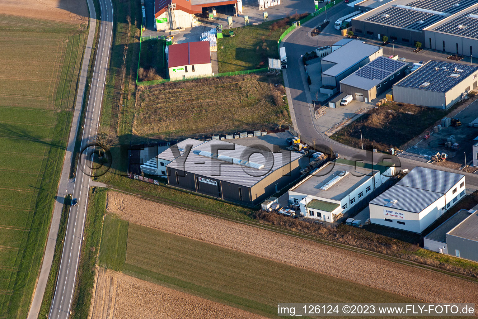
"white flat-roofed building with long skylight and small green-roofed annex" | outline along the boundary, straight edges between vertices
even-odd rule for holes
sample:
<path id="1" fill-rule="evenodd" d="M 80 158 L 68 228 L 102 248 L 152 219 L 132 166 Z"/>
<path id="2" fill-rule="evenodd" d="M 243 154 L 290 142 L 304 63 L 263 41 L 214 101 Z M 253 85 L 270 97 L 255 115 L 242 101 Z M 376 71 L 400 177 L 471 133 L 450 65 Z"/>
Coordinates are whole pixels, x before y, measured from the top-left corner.
<path id="1" fill-rule="evenodd" d="M 372 166 L 337 158 L 289 189 L 289 203 L 300 206 L 304 217 L 334 222 L 394 174 L 392 163 Z"/>

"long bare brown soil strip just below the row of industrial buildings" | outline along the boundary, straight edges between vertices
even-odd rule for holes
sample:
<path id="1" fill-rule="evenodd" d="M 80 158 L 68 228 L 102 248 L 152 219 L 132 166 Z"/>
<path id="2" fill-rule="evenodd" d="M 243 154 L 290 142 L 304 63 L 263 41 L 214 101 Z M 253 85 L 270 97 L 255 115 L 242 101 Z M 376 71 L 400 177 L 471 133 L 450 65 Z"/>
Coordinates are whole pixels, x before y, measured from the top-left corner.
<path id="1" fill-rule="evenodd" d="M 119 218 L 426 302 L 478 303 L 478 284 L 110 191 Z"/>

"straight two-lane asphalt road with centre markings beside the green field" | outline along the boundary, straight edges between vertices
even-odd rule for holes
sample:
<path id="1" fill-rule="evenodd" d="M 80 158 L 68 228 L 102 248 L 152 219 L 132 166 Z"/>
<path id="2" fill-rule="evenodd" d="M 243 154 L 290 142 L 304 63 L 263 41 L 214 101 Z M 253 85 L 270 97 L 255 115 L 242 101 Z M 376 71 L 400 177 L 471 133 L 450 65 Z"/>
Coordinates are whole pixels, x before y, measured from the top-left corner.
<path id="1" fill-rule="evenodd" d="M 81 150 L 86 148 L 91 136 L 96 136 L 98 130 L 98 120 L 105 88 L 105 78 L 108 69 L 111 36 L 113 32 L 113 5 L 111 0 L 99 0 L 99 3 L 101 17 L 99 19 L 98 50 L 87 104 Z M 90 149 L 91 148 L 88 150 Z M 73 198 L 78 198 L 78 205 L 70 209 L 58 281 L 48 318 L 68 318 L 73 299 L 92 170 L 86 153 L 87 152 L 83 152 L 80 155 L 76 169 L 72 194 Z"/>

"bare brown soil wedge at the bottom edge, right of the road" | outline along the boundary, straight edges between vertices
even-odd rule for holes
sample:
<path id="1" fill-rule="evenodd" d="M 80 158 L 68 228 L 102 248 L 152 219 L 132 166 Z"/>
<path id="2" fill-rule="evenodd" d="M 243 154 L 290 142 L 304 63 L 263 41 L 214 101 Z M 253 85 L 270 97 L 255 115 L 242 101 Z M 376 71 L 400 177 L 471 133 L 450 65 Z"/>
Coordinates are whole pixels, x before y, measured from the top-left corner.
<path id="1" fill-rule="evenodd" d="M 98 267 L 90 319 L 265 319 L 160 285 Z"/>

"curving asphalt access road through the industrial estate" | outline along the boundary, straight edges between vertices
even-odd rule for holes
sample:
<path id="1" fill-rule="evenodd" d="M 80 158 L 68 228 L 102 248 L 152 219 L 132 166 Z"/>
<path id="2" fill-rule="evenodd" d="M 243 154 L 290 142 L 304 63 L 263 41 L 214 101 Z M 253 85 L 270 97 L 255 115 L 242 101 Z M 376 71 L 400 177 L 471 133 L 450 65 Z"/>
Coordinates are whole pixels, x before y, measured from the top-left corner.
<path id="1" fill-rule="evenodd" d="M 356 149 L 351 146 L 347 146 L 337 141 L 330 139 L 325 134 L 319 132 L 312 120 L 314 114 L 314 107 L 312 99 L 309 93 L 307 85 L 307 76 L 302 63 L 301 55 L 305 52 L 314 50 L 317 47 L 331 45 L 340 39 L 343 39 L 338 32 L 330 31 L 333 29 L 333 23 L 344 14 L 348 13 L 349 7 L 344 3 L 339 3 L 336 6 L 327 10 L 327 17 L 325 12 L 318 15 L 314 19 L 304 23 L 302 26 L 289 33 L 281 43 L 281 46 L 285 47 L 287 54 L 287 69 L 284 69 L 284 83 L 286 87 L 287 99 L 289 109 L 291 113 L 291 119 L 293 122 L 294 130 L 298 131 L 301 135 L 307 138 L 309 141 L 315 141 L 315 144 L 323 145 L 333 150 L 334 153 L 345 156 L 349 159 L 363 160 L 369 163 L 377 163 L 382 159 L 389 159 L 396 163 L 397 166 L 407 169 L 412 169 L 415 166 L 430 167 L 440 169 L 444 171 L 450 171 L 458 173 L 456 170 L 448 169 L 446 167 L 440 167 L 436 165 L 426 164 L 418 161 L 413 161 L 404 158 L 398 158 L 397 156 L 391 156 L 387 154 L 373 153 Z M 324 32 L 320 33 L 316 37 L 310 35 L 310 31 L 317 25 L 322 23 L 324 19 L 330 21 L 329 25 L 325 28 Z M 374 40 L 363 39 L 367 43 L 376 44 Z M 389 45 L 390 46 L 390 45 Z M 389 49 L 387 46 L 387 50 Z M 393 48 L 390 48 L 393 50 Z M 425 60 L 425 59 L 440 59 L 444 60 L 445 55 L 434 51 L 422 50 L 420 54 L 412 53 L 410 47 L 395 45 L 395 54 L 407 57 L 408 60 Z M 385 52 L 388 54 L 388 52 Z M 463 173 L 467 176 L 467 190 L 474 191 L 478 189 L 478 176 Z"/>

